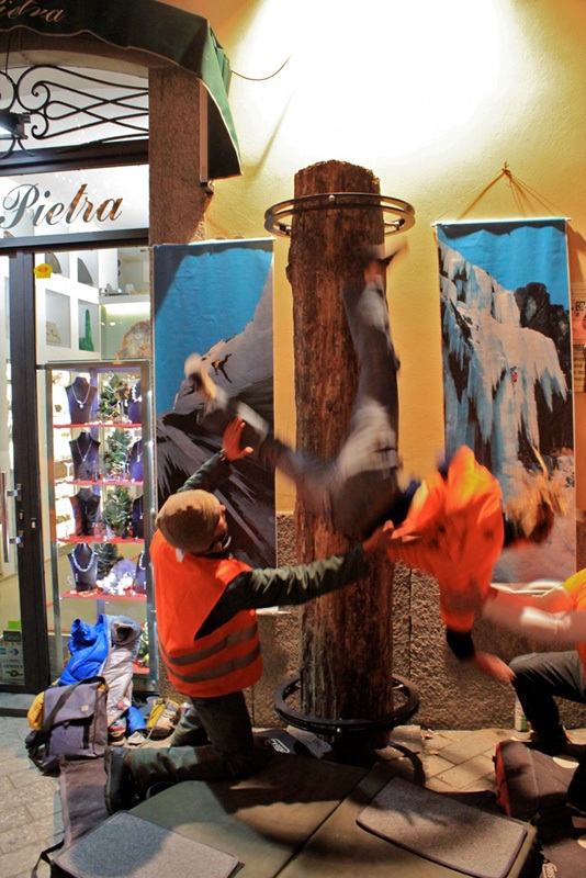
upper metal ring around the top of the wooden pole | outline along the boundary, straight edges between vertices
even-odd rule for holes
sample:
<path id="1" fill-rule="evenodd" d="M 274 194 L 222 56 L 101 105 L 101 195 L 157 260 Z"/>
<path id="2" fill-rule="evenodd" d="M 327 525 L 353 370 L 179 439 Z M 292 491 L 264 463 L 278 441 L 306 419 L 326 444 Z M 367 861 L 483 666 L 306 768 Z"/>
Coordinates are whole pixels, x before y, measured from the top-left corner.
<path id="1" fill-rule="evenodd" d="M 396 235 L 415 225 L 415 210 L 406 201 L 369 192 L 324 192 L 281 201 L 264 212 L 264 228 L 273 235 L 289 237 L 293 216 L 308 211 L 357 211 L 377 207 L 383 212 L 384 234 Z M 393 216 L 387 219 L 386 216 Z"/>

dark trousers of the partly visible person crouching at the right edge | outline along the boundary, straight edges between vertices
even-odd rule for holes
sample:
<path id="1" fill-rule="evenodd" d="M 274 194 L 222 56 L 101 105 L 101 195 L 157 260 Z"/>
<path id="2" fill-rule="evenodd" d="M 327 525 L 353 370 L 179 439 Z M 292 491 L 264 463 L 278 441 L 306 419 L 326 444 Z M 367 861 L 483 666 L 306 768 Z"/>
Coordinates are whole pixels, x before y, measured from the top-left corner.
<path id="1" fill-rule="evenodd" d="M 525 716 L 537 734 L 548 740 L 564 734 L 555 698 L 586 703 L 586 679 L 575 650 L 519 655 L 510 663 L 515 672 L 512 685 Z M 567 799 L 586 811 L 586 758 L 579 765 L 567 790 Z"/>

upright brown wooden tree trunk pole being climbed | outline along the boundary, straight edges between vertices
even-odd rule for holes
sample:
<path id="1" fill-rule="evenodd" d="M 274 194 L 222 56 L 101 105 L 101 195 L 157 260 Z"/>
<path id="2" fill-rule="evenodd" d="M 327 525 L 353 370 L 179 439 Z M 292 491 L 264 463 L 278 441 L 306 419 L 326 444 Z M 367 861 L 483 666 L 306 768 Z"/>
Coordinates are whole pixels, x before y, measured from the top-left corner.
<path id="1" fill-rule="evenodd" d="M 295 198 L 334 192 L 380 195 L 380 184 L 370 170 L 341 161 L 320 162 L 295 176 Z M 342 441 L 357 387 L 342 285 L 362 279 L 361 254 L 383 240 L 379 206 L 293 216 L 288 277 L 293 292 L 297 446 L 323 458 L 334 457 Z M 295 536 L 304 562 L 348 545 L 301 498 Z M 393 711 L 392 592 L 393 566 L 381 560 L 368 581 L 304 606 L 302 711 L 327 719 L 379 719 Z M 388 732 L 373 732 L 369 739 L 361 742 L 365 748 L 381 747 Z"/>

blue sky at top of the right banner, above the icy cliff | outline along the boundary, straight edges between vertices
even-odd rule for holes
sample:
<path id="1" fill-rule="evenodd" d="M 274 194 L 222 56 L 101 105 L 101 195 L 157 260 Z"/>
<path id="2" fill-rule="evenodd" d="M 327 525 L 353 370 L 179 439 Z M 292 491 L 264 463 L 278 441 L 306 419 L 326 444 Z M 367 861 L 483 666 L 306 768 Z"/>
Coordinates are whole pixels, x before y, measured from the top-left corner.
<path id="1" fill-rule="evenodd" d="M 553 304 L 570 307 L 565 219 L 438 223 L 437 234 L 506 290 L 544 283 Z"/>

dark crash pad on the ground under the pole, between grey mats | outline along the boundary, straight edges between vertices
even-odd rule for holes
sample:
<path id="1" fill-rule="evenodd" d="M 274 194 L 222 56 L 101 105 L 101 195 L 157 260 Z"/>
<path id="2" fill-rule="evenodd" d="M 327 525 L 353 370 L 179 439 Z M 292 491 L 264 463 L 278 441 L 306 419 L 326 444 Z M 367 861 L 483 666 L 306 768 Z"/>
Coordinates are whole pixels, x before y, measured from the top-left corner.
<path id="1" fill-rule="evenodd" d="M 239 878 L 455 878 L 432 863 L 368 832 L 360 811 L 393 778 L 304 756 L 275 754 L 239 783 L 184 781 L 132 813 L 234 854 Z M 504 818 L 505 819 L 505 818 Z M 507 878 L 534 875 L 536 831 L 526 837 Z"/>

